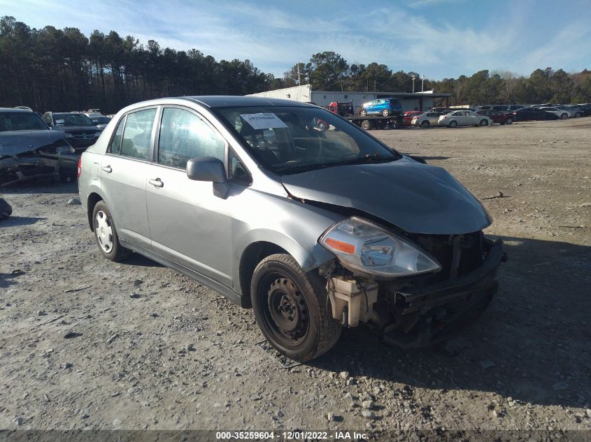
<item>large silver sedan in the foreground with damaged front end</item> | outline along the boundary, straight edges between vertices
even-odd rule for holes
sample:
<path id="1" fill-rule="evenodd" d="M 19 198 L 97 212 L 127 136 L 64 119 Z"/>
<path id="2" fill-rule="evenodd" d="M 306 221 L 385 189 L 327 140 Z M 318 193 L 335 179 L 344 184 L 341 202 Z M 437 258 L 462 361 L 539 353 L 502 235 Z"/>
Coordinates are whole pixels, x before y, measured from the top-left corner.
<path id="1" fill-rule="evenodd" d="M 292 360 L 342 327 L 430 346 L 497 292 L 501 240 L 446 170 L 315 105 L 238 96 L 124 108 L 78 167 L 100 253 L 141 253 L 251 307 Z"/>

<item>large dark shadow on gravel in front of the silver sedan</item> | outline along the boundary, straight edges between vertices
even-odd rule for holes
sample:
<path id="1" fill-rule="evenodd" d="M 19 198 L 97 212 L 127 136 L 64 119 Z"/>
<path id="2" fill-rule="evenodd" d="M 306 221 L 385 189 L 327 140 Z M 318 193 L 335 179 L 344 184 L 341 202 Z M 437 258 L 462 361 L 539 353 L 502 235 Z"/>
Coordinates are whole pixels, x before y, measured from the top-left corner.
<path id="1" fill-rule="evenodd" d="M 499 293 L 457 337 L 408 351 L 381 344 L 369 330 L 343 330 L 333 350 L 310 364 L 434 395 L 472 390 L 513 397 L 517 404 L 591 402 L 591 247 L 503 240 L 509 260 L 499 271 Z"/>

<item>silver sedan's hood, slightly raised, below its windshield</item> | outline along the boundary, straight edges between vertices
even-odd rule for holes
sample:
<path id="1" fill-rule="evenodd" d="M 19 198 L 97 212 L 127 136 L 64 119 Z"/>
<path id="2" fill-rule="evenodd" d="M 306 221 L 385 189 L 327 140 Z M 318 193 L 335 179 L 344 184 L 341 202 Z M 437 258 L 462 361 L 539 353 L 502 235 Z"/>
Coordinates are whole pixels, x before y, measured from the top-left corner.
<path id="1" fill-rule="evenodd" d="M 483 206 L 443 168 L 403 158 L 282 177 L 303 200 L 359 209 L 408 233 L 458 235 L 490 226 Z"/>

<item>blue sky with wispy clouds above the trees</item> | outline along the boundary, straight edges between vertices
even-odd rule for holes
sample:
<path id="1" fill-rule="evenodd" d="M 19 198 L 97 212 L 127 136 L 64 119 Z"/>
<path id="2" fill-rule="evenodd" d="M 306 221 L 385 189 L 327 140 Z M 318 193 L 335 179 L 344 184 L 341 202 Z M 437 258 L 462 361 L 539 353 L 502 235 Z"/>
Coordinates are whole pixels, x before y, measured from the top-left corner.
<path id="1" fill-rule="evenodd" d="M 590 0 L 0 0 L 0 15 L 250 59 L 276 76 L 325 50 L 435 80 L 591 68 Z"/>

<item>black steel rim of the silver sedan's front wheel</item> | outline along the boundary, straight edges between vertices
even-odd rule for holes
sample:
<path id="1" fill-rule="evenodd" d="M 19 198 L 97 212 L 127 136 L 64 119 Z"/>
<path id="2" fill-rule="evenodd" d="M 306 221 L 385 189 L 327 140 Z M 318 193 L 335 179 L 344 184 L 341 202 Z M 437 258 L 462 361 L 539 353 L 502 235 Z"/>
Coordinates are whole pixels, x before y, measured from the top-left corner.
<path id="1" fill-rule="evenodd" d="M 294 347 L 306 339 L 310 327 L 308 306 L 292 279 L 269 274 L 259 286 L 259 303 L 266 328 L 280 345 Z"/>

